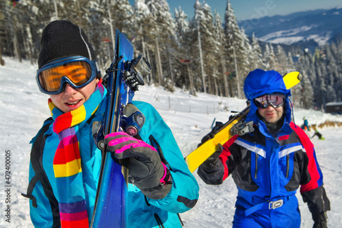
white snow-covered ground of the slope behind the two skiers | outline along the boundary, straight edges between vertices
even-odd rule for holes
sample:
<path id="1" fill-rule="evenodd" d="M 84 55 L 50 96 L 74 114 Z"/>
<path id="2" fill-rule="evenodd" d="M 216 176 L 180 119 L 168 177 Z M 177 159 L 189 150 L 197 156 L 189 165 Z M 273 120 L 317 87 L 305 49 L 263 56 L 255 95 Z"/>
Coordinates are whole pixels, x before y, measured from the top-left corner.
<path id="1" fill-rule="evenodd" d="M 11 58 L 4 60 L 5 66 L 0 66 L 0 227 L 33 227 L 29 218 L 29 200 L 21 197 L 21 193 L 26 192 L 28 184 L 29 141 L 36 135 L 44 119 L 50 116 L 48 96 L 40 93 L 36 86 L 36 65 L 32 66 L 27 61 L 19 63 Z M 170 93 L 155 86 L 140 87 L 135 99 L 147 101 L 159 110 L 172 129 L 184 156 L 196 149 L 202 136 L 210 131 L 214 118 L 226 122 L 230 111 L 242 110 L 246 105 L 244 100 L 202 93 L 194 97 L 180 89 Z M 310 125 L 318 125 L 326 120 L 342 122 L 341 115 L 313 110 L 295 109 L 294 116 L 298 125 L 302 124 L 304 116 Z M 328 227 L 341 227 L 342 127 L 326 127 L 319 131 L 325 140 L 313 138 L 313 143 L 332 207 L 328 212 Z M 5 161 L 8 160 L 10 162 L 7 164 L 10 165 L 6 166 Z M 6 173 L 6 167 L 10 168 L 10 173 Z M 200 185 L 200 199 L 194 209 L 181 214 L 185 227 L 231 227 L 237 194 L 231 177 L 221 186 L 207 186 L 196 171 L 194 176 Z M 312 227 L 311 214 L 299 193 L 298 199 L 302 214 L 301 227 Z M 10 212 L 5 211 L 7 208 L 10 208 Z M 10 219 L 10 223 L 6 219 Z"/>

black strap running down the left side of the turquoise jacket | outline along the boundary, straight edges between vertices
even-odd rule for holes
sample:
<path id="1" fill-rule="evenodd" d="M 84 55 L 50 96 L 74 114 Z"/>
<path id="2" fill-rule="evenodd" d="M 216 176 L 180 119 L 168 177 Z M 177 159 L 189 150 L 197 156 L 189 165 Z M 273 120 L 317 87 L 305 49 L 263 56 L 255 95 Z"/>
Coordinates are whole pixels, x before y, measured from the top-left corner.
<path id="1" fill-rule="evenodd" d="M 32 195 L 32 192 L 34 191 L 34 187 L 36 186 L 36 183 L 40 181 L 40 183 L 42 184 L 42 188 L 44 190 L 44 194 L 46 195 L 47 199 L 49 199 L 49 203 L 51 205 L 51 212 L 53 216 L 53 227 L 60 227 L 60 210 L 58 207 L 58 201 L 55 198 L 55 195 L 53 194 L 53 190 L 49 182 L 49 179 L 47 178 L 47 174 L 45 173 L 44 168 L 42 168 L 42 153 L 45 147 L 45 140 L 47 139 L 47 137 L 51 136 L 51 134 L 45 134 L 45 133 L 49 129 L 51 123 L 53 123 L 52 117 L 44 121 L 44 125 L 42 129 L 40 129 L 40 132 L 38 132 L 38 135 L 36 136 L 36 140 L 34 141 L 34 144 L 32 145 L 31 166 L 34 170 L 35 175 L 29 181 L 29 186 L 27 187 L 27 193 L 26 194 L 22 193 L 21 195 L 23 197 L 31 199 L 33 207 L 38 207 L 36 197 Z"/>

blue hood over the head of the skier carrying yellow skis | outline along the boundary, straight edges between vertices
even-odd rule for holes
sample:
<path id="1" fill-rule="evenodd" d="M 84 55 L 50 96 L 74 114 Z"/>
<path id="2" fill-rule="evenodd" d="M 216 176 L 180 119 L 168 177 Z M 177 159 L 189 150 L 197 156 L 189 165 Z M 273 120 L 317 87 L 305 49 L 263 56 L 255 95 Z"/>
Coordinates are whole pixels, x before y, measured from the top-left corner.
<path id="1" fill-rule="evenodd" d="M 281 93 L 285 94 L 285 123 L 291 122 L 291 103 L 289 101 L 291 91 L 287 90 L 280 73 L 261 69 L 251 71 L 245 79 L 244 92 L 248 101 L 250 101 L 250 112 L 248 112 L 246 121 L 259 123 L 257 117 L 258 107 L 253 102 L 254 98 L 263 94 Z"/>

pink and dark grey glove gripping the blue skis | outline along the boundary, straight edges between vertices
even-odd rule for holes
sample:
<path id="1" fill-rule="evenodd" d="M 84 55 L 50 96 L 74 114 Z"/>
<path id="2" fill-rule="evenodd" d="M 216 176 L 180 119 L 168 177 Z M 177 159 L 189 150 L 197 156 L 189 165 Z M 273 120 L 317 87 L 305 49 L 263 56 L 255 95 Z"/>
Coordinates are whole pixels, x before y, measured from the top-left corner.
<path id="1" fill-rule="evenodd" d="M 172 187 L 172 178 L 154 147 L 123 131 L 108 134 L 105 143 L 116 159 L 129 158 L 129 183 L 135 184 L 150 199 L 166 197 Z"/>

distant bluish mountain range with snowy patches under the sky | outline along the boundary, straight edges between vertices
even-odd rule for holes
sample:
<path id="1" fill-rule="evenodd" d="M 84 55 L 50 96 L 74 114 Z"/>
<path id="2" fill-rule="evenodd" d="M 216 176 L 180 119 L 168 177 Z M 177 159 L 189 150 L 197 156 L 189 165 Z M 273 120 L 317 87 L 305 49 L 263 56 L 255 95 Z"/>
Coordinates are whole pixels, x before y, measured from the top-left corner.
<path id="1" fill-rule="evenodd" d="M 330 10 L 265 16 L 237 22 L 247 36 L 282 45 L 317 47 L 342 38 L 342 5 Z"/>

